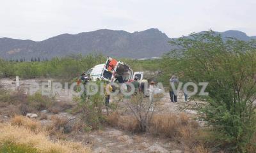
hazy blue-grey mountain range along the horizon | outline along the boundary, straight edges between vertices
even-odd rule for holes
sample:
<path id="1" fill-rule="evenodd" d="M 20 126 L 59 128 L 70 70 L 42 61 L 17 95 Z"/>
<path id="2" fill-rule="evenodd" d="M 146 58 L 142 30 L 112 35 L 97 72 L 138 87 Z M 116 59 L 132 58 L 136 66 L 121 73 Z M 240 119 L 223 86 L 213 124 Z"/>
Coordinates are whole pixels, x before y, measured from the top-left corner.
<path id="1" fill-rule="evenodd" d="M 241 31 L 225 31 L 220 33 L 223 38 L 234 37 L 248 41 L 256 36 L 247 36 Z M 15 40 L 0 38 L 0 57 L 4 59 L 20 59 L 25 57 L 63 57 L 72 54 L 102 53 L 112 57 L 161 57 L 172 50 L 168 43 L 171 38 L 158 29 L 128 33 L 101 29 L 79 34 L 61 34 L 44 41 Z"/>

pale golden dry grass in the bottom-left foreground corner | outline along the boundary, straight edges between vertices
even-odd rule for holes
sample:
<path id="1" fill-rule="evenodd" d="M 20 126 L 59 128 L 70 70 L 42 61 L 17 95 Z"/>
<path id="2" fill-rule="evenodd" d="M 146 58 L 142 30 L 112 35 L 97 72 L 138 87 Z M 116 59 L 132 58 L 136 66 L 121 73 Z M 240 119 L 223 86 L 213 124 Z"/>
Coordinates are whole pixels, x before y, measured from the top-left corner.
<path id="1" fill-rule="evenodd" d="M 16 121 L 20 124 L 19 120 L 16 119 Z M 28 124 L 28 120 L 25 120 L 25 122 L 26 123 L 21 123 L 21 125 Z M 31 131 L 30 128 L 26 128 L 26 126 L 0 124 L 0 133 L 0 144 L 12 143 L 15 145 L 26 145 L 29 147 L 33 147 L 40 153 L 90 152 L 90 149 L 88 149 L 87 147 L 83 147 L 81 143 L 67 141 L 58 141 L 56 143 L 51 142 L 47 138 L 47 133 L 45 133 L 44 131 L 34 133 L 33 131 Z"/>

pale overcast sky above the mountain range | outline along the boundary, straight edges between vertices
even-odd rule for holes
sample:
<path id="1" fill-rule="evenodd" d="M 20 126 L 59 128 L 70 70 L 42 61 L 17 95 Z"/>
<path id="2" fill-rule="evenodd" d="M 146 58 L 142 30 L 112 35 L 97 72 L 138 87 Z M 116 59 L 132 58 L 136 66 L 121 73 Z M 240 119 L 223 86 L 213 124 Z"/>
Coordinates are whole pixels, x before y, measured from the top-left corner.
<path id="1" fill-rule="evenodd" d="M 1 0 L 0 38 L 42 41 L 97 29 L 157 28 L 170 38 L 239 30 L 256 36 L 255 0 Z"/>

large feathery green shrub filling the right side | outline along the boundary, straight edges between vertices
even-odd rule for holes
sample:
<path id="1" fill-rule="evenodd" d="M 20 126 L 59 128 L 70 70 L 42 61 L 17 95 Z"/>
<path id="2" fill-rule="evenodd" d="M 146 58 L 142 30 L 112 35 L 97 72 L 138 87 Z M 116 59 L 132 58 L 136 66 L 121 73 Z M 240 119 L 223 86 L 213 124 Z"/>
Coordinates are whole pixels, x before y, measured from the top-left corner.
<path id="1" fill-rule="evenodd" d="M 246 152 L 256 128 L 256 42 L 222 38 L 212 32 L 191 34 L 172 41 L 173 50 L 163 60 L 166 73 L 184 82 L 209 82 L 202 118 L 216 130 L 216 145 Z M 179 52 L 176 52 L 179 51 Z"/>

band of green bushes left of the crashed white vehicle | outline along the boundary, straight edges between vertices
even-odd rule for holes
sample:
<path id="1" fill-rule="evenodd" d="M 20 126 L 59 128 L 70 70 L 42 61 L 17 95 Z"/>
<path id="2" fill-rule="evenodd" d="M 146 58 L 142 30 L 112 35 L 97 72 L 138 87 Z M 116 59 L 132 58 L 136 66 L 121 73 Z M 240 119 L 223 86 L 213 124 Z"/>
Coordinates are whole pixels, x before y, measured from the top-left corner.
<path id="1" fill-rule="evenodd" d="M 51 61 L 42 62 L 13 62 L 0 59 L 0 78 L 19 76 L 21 78 L 71 79 L 80 75 L 82 71 L 104 62 L 106 57 L 100 54 L 54 57 Z"/>

